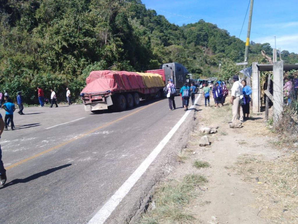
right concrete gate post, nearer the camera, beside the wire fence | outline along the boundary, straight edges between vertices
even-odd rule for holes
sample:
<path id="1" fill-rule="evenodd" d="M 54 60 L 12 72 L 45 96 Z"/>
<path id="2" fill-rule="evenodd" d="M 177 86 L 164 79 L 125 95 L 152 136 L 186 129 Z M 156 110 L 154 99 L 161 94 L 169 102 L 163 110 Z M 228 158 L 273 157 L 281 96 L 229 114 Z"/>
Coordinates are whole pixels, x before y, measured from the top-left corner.
<path id="1" fill-rule="evenodd" d="M 273 62 L 273 123 L 283 115 L 283 61 Z"/>

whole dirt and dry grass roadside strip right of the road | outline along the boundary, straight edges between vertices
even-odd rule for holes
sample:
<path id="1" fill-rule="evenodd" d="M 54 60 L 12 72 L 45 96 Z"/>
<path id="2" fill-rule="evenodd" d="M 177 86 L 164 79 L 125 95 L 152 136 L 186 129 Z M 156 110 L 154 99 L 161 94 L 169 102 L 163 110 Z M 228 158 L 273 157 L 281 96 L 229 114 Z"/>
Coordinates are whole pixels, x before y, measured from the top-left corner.
<path id="1" fill-rule="evenodd" d="M 203 100 L 198 103 L 188 145 L 177 152 L 178 167 L 156 187 L 153 205 L 140 223 L 297 223 L 298 155 L 274 146 L 278 139 L 268 129 L 264 114 L 251 114 L 242 128 L 233 129 L 228 124 L 231 105 L 215 108 L 211 100 L 211 106 L 204 107 Z M 199 146 L 205 135 L 200 132 L 202 126 L 218 126 L 205 147 Z M 172 217 L 167 213 L 165 218 L 164 210 L 156 212 L 159 205 L 167 206 L 161 201 L 169 183 L 181 184 L 190 174 L 206 181 L 197 184 L 192 199 L 178 206 L 184 218 L 179 218 L 182 213 L 172 212 Z"/>

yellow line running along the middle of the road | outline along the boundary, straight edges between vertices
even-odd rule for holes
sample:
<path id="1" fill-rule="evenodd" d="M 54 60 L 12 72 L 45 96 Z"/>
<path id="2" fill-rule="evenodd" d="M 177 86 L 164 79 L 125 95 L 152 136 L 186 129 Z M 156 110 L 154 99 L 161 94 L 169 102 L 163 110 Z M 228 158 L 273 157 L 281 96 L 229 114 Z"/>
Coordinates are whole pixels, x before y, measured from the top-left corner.
<path id="1" fill-rule="evenodd" d="M 93 133 L 93 132 L 95 132 L 95 131 L 98 131 L 98 130 L 100 130 L 100 129 L 102 129 L 102 128 L 105 128 L 105 127 L 107 127 L 107 126 L 109 126 L 109 125 L 112 125 L 112 124 L 114 124 L 114 123 L 116 123 L 116 122 L 118 122 L 118 121 L 121 121 L 121 120 L 123 120 L 123 119 L 125 119 L 125 118 L 127 118 L 127 117 L 129 117 L 129 116 L 131 116 L 131 115 L 133 115 L 133 114 L 135 114 L 135 113 L 138 113 L 138 112 L 140 112 L 140 111 L 142 111 L 142 110 L 144 110 L 144 109 L 146 109 L 146 108 L 148 108 L 148 107 L 154 105 L 154 104 L 157 104 L 158 102 L 160 102 L 160 100 L 157 101 L 157 102 L 151 103 L 150 105 L 147 105 L 147 106 L 145 106 L 145 107 L 143 107 L 143 108 L 141 108 L 141 109 L 139 109 L 139 110 L 136 110 L 136 111 L 134 111 L 134 112 L 132 112 L 132 113 L 129 113 L 129 114 L 123 116 L 123 117 L 120 117 L 120 118 L 118 118 L 117 120 L 108 122 L 108 123 L 106 123 L 106 124 L 104 124 L 104 125 L 101 125 L 100 127 L 97 127 L 97 128 L 92 129 L 91 131 L 88 131 L 88 132 L 85 132 L 85 133 L 83 133 L 83 134 L 81 134 L 81 135 L 79 135 L 79 136 L 76 136 L 75 138 L 69 139 L 69 140 L 66 141 L 66 142 L 62 142 L 62 143 L 59 144 L 59 145 L 56 145 L 56 146 L 54 146 L 54 147 L 52 147 L 52 148 L 49 148 L 49 149 L 47 149 L 47 150 L 45 150 L 45 151 L 42 151 L 42 152 L 40 152 L 40 153 L 38 153 L 38 154 L 35 154 L 35 155 L 31 156 L 31 157 L 28 157 L 28 158 L 26 158 L 26 159 L 23 159 L 23 160 L 21 160 L 21 161 L 19 161 L 19 162 L 13 163 L 13 164 L 11 164 L 11 165 L 5 167 L 5 169 L 6 169 L 6 170 L 9 170 L 9 169 L 11 169 L 11 168 L 13 168 L 13 167 L 15 167 L 15 166 L 18 166 L 18 165 L 21 165 L 21 164 L 23 164 L 23 163 L 25 163 L 25 162 L 28 162 L 28 161 L 31 160 L 31 159 L 34 159 L 34 158 L 39 157 L 39 156 L 41 156 L 41 155 L 43 155 L 43 154 L 46 154 L 46 153 L 48 153 L 48 152 L 51 152 L 51 151 L 53 151 L 53 150 L 55 150 L 55 149 L 57 149 L 57 148 L 60 148 L 60 147 L 62 147 L 62 146 L 64 146 L 64 145 L 67 145 L 67 144 L 69 144 L 69 143 L 71 143 L 71 142 L 74 142 L 74 141 L 77 140 L 77 139 L 81 139 L 81 138 L 85 137 L 86 135 L 89 135 L 89 134 L 91 134 L 91 133 Z"/>

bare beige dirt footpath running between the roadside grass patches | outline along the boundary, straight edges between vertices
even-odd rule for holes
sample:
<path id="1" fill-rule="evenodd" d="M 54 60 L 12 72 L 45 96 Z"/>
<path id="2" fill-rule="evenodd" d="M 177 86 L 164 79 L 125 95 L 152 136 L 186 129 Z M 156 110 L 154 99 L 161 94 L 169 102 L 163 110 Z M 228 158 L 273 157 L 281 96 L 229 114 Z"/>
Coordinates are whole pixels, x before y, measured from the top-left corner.
<path id="1" fill-rule="evenodd" d="M 204 102 L 201 101 L 200 105 Z M 200 171 L 207 176 L 209 183 L 191 210 L 198 223 L 269 223 L 260 218 L 261 208 L 250 206 L 257 197 L 252 193 L 252 185 L 244 182 L 243 177 L 230 168 L 244 154 L 263 154 L 267 159 L 274 159 L 279 152 L 266 147 L 273 137 L 262 115 L 252 115 L 251 120 L 243 123 L 243 128 L 232 129 L 228 124 L 232 113 L 230 110 L 230 106 L 225 105 L 223 108 L 203 107 L 198 112 L 200 125 L 218 125 L 219 128 L 217 134 L 209 136 L 210 146 L 198 147 L 194 144 L 192 147 L 197 159 L 209 162 L 210 167 Z M 191 141 L 198 137 L 193 135 Z"/>

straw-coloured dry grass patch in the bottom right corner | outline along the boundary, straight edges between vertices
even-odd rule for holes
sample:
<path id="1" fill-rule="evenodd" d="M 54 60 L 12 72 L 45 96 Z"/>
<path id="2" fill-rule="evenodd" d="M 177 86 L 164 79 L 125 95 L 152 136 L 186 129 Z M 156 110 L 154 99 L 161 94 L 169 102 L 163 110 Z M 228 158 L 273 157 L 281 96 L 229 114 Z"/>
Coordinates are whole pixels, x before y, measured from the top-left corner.
<path id="1" fill-rule="evenodd" d="M 252 204 L 273 223 L 298 223 L 298 153 L 266 161 L 261 155 L 243 155 L 233 169 L 253 183 L 258 194 Z"/>

